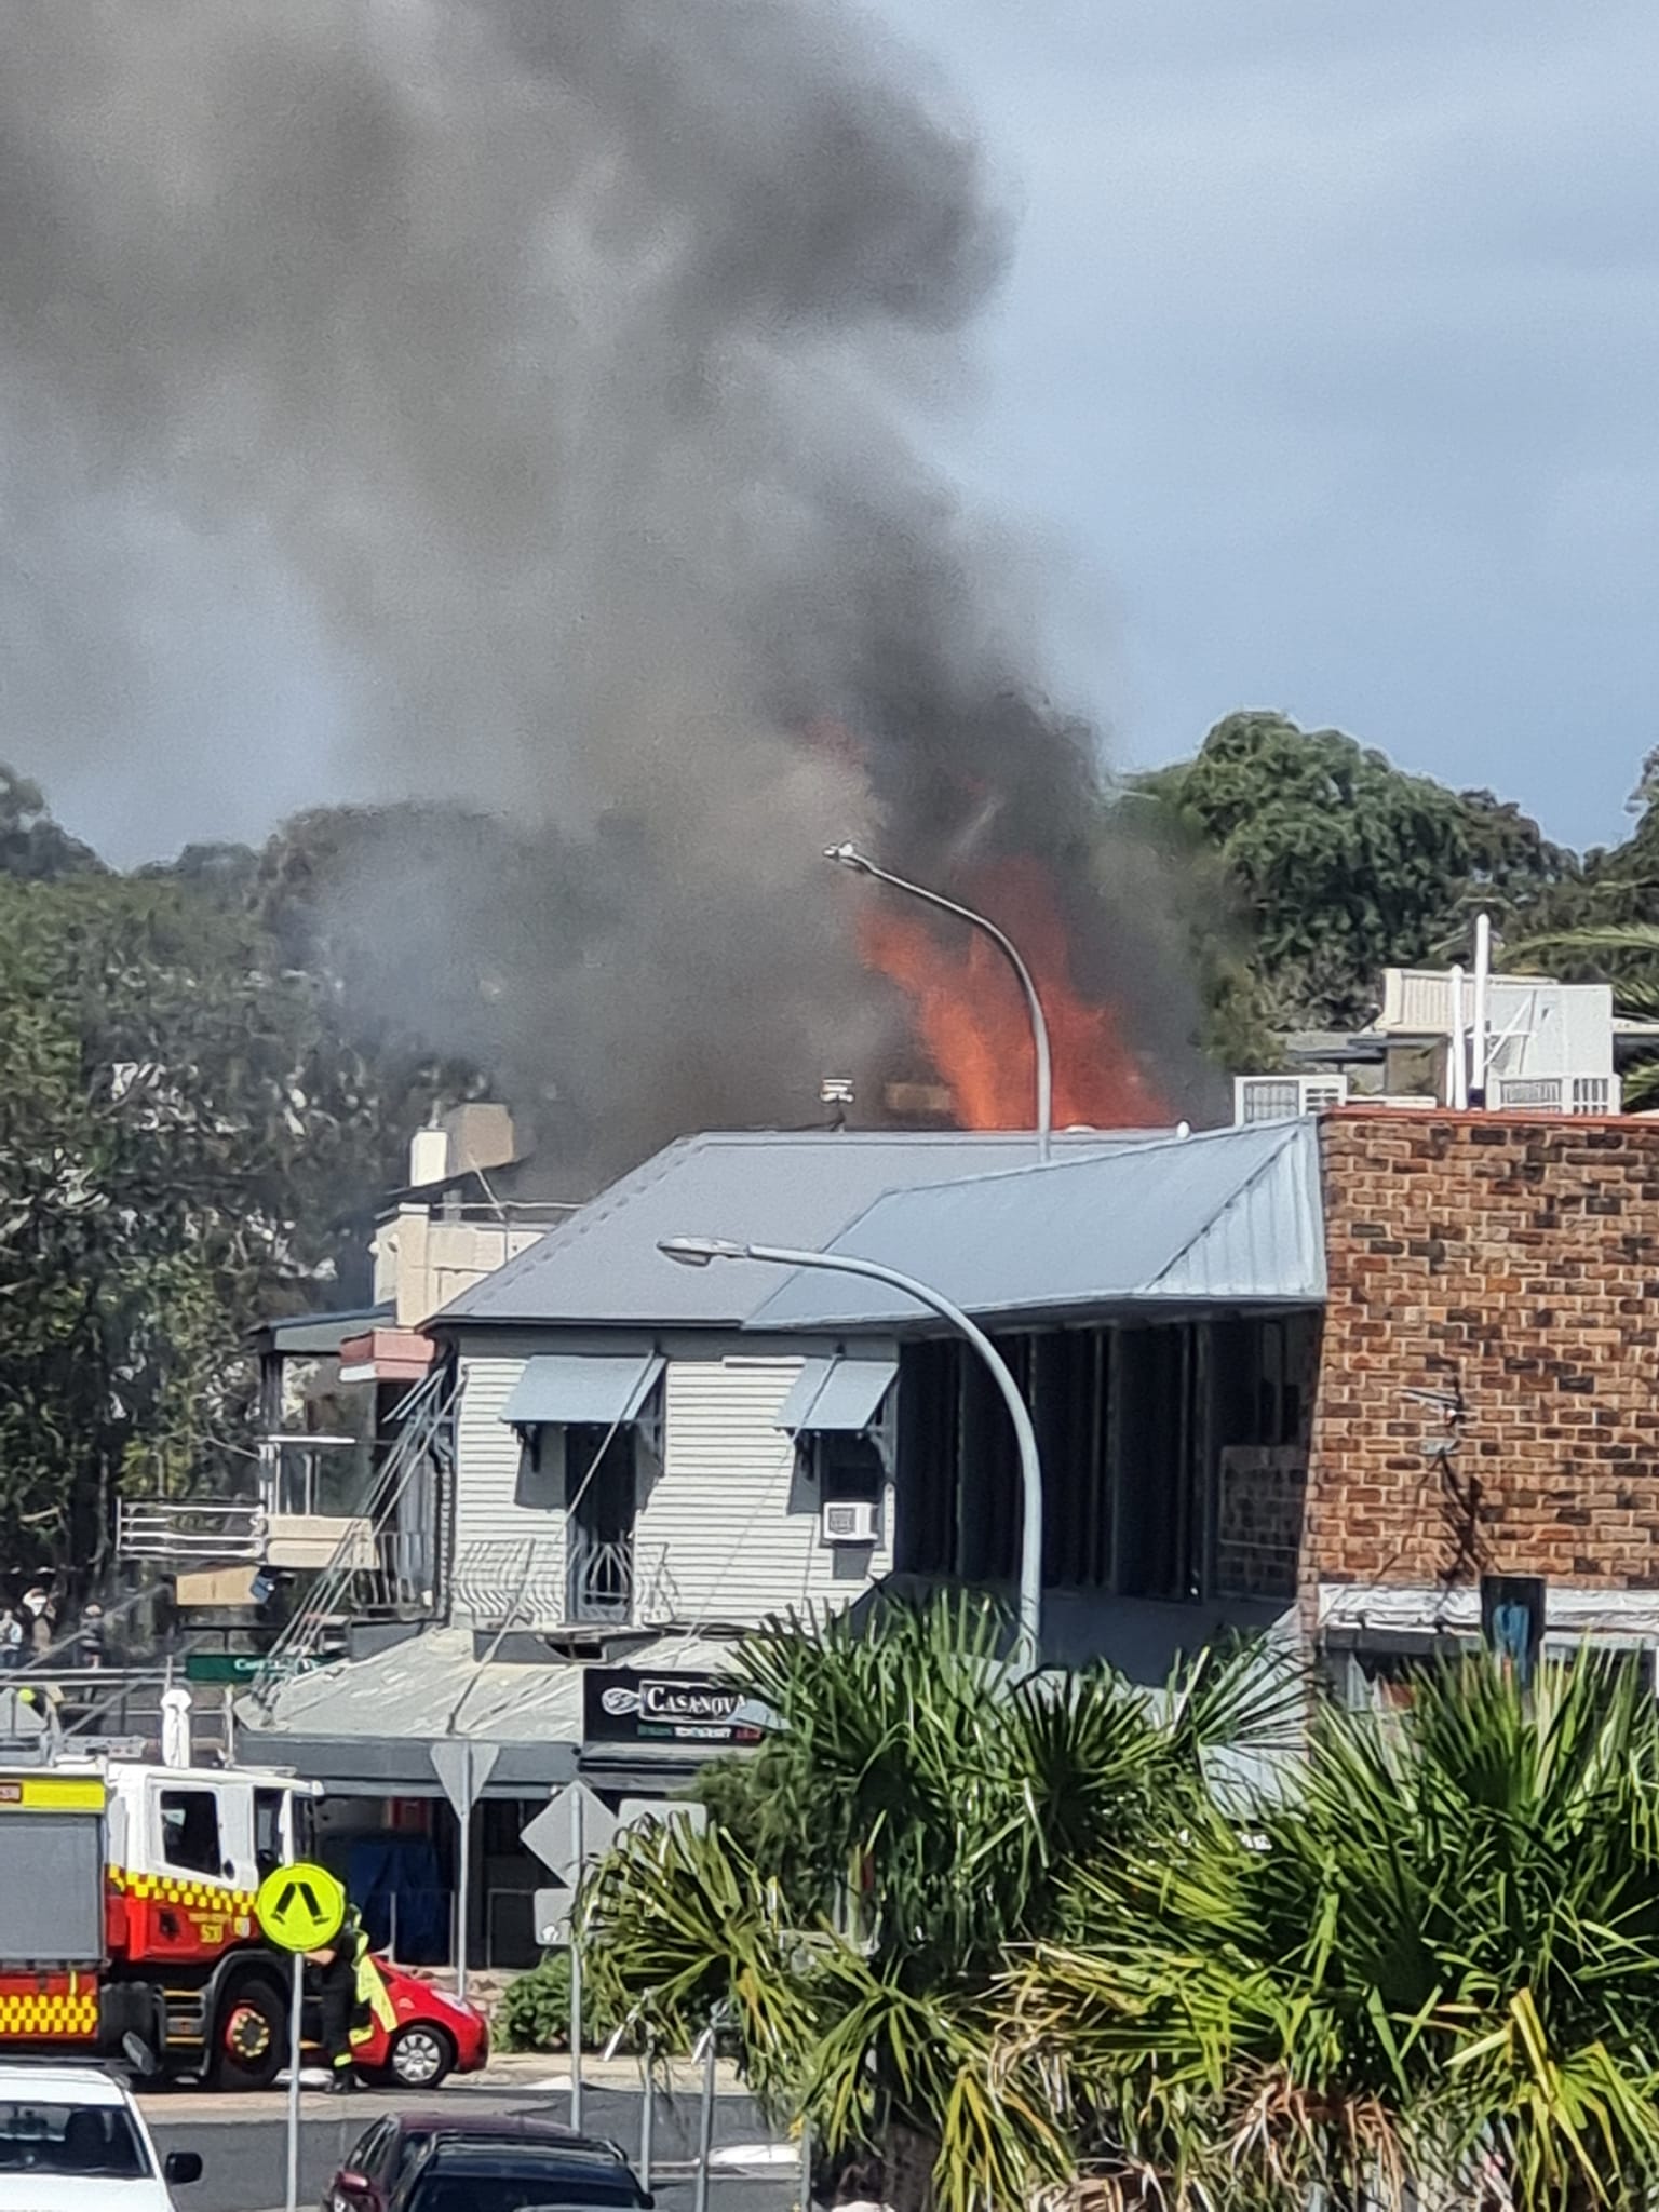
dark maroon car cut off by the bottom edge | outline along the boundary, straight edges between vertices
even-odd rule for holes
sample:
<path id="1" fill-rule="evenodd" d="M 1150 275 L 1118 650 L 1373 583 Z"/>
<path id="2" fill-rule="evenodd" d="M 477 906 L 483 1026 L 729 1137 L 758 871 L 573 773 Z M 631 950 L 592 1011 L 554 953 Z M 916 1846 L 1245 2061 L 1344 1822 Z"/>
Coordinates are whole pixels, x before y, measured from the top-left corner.
<path id="1" fill-rule="evenodd" d="M 480 2205 L 493 2205 L 489 2190 L 495 2183 L 509 2188 L 504 2203 L 513 2203 L 513 2159 L 535 2161 L 529 2181 L 544 2188 L 555 2183 L 555 2192 L 520 2197 L 520 2203 L 535 2205 L 650 2205 L 650 2197 L 635 2181 L 633 2168 L 615 2143 L 604 2143 L 593 2135 L 573 2135 L 551 2119 L 531 2119 L 515 2112 L 478 2112 L 458 2117 L 456 2112 L 396 2112 L 358 2137 L 345 2166 L 323 2192 L 323 2212 L 407 2212 L 416 2199 L 414 2183 L 436 2174 L 438 2154 L 467 2157 L 476 2152 L 487 2163 L 495 2161 L 489 2174 L 476 2177 L 482 2185 Z M 456 2168 L 442 2177 L 445 2185 L 456 2177 Z M 436 2185 L 436 2183 L 434 2183 Z M 469 2183 L 471 2185 L 471 2183 Z M 434 2199 L 447 2203 L 445 2194 Z M 422 2201 L 425 2203 L 425 2201 Z M 471 2205 L 471 2199 L 465 2199 Z"/>

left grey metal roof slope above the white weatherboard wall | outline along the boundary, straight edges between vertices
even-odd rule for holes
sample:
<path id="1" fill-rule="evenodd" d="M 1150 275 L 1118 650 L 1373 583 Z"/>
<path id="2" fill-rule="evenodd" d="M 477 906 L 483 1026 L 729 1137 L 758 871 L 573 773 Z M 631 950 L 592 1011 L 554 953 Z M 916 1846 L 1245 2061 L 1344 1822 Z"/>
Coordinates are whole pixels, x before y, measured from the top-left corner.
<path id="1" fill-rule="evenodd" d="M 1146 1130 L 1066 1135 L 1057 1150 L 1102 1152 Z M 885 1190 L 984 1175 L 1031 1155 L 1020 1130 L 710 1130 L 681 1137 L 602 1190 L 447 1305 L 453 1323 L 734 1325 L 783 1283 L 781 1267 L 677 1267 L 661 1237 L 732 1237 L 818 1248 Z"/>

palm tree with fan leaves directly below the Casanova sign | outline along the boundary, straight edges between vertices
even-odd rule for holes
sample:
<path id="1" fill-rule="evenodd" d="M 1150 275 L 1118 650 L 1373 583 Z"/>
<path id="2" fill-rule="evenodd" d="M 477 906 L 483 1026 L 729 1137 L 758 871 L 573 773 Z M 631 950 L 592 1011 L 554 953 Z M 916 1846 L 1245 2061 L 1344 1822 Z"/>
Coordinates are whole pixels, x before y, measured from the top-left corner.
<path id="1" fill-rule="evenodd" d="M 1009 1962 L 1062 1933 L 1082 1869 L 1201 1814 L 1214 1747 L 1283 1743 L 1294 1710 L 1261 1657 L 1206 1652 L 1150 1699 L 1022 1681 L 1004 1641 L 967 1597 L 748 1639 L 730 1674 L 776 1728 L 743 1840 L 648 1829 L 584 1900 L 611 2004 L 664 2039 L 721 2004 L 757 2093 L 947 2212 L 1073 2163 L 1042 2079 L 998 2059 Z"/>

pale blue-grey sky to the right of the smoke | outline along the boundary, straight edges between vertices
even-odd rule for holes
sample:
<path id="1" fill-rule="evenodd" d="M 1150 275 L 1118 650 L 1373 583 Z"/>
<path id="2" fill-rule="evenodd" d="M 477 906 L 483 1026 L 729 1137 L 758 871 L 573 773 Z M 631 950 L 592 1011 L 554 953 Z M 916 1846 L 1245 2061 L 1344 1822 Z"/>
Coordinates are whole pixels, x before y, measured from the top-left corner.
<path id="1" fill-rule="evenodd" d="M 956 434 L 1130 759 L 1336 721 L 1624 834 L 1659 743 L 1659 9 L 883 0 L 1020 210 Z"/>

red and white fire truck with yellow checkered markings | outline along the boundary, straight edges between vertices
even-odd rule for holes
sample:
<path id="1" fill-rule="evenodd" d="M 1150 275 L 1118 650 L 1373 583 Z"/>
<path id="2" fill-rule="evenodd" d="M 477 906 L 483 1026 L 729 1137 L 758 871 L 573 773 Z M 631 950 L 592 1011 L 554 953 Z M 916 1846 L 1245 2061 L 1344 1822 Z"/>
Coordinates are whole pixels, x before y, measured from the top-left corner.
<path id="1" fill-rule="evenodd" d="M 254 1893 L 316 1787 L 88 1759 L 0 1770 L 0 2057 L 144 2059 L 215 2088 L 285 2064 L 290 1962 Z"/>

